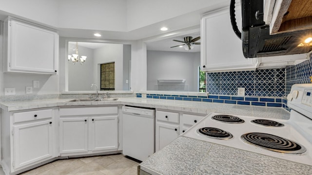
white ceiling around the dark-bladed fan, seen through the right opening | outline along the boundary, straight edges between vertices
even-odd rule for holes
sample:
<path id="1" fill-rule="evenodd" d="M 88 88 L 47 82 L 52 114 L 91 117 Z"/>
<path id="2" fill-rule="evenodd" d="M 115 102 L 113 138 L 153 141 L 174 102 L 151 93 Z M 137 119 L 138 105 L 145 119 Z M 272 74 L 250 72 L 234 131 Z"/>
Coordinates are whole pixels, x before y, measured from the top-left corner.
<path id="1" fill-rule="evenodd" d="M 179 35 L 175 37 L 169 37 L 166 39 L 154 41 L 154 42 L 148 42 L 146 43 L 147 50 L 150 51 L 171 51 L 171 52 L 200 52 L 200 45 L 194 45 L 194 48 L 192 50 L 186 51 L 183 47 L 174 47 L 170 48 L 172 46 L 181 45 L 183 43 L 173 41 L 173 39 L 178 41 L 184 41 L 184 37 L 186 36 L 192 36 L 193 38 L 200 36 L 200 32 L 190 33 L 190 34 L 184 34 Z M 196 42 L 200 42 L 200 39 Z"/>

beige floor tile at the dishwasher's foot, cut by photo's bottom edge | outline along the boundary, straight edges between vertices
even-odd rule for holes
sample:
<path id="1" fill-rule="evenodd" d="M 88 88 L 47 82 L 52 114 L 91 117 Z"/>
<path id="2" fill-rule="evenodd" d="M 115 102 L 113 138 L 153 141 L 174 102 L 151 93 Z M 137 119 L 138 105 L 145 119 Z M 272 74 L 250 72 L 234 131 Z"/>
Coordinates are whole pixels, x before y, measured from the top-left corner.
<path id="1" fill-rule="evenodd" d="M 101 172 L 105 175 L 120 175 L 121 173 L 131 168 L 135 163 L 136 162 L 133 160 L 122 157 L 105 167 L 105 170 L 102 170 Z"/>

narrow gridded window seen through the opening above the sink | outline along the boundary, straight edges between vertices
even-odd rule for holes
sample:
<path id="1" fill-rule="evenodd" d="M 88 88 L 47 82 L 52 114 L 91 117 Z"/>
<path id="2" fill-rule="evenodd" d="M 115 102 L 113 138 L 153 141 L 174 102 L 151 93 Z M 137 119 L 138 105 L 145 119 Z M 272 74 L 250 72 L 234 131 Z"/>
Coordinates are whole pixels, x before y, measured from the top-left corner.
<path id="1" fill-rule="evenodd" d="M 101 90 L 115 90 L 115 62 L 101 64 Z"/>

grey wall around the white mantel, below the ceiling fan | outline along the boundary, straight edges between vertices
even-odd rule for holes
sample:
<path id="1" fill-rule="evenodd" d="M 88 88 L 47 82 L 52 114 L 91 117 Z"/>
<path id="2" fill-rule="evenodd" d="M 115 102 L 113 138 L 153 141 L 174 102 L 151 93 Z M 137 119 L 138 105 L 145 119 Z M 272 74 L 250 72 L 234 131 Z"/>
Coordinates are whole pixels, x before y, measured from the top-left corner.
<path id="1" fill-rule="evenodd" d="M 158 90 L 158 79 L 185 79 L 184 90 L 197 91 L 199 65 L 200 53 L 147 51 L 147 90 Z"/>

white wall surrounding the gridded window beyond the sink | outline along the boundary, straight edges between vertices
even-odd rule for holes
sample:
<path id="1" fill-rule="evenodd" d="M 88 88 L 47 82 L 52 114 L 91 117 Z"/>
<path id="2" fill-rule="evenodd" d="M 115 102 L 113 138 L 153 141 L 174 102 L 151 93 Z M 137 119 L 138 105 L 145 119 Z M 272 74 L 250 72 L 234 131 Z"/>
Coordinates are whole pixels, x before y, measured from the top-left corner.
<path id="1" fill-rule="evenodd" d="M 98 65 L 97 69 L 93 69 L 93 81 L 97 82 L 100 87 L 100 64 L 115 62 L 115 90 L 122 90 L 123 87 L 123 45 L 108 44 L 104 47 L 94 50 L 94 65 Z"/>

